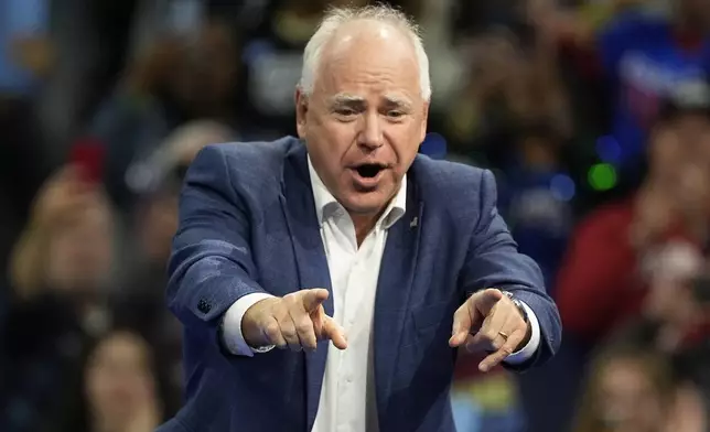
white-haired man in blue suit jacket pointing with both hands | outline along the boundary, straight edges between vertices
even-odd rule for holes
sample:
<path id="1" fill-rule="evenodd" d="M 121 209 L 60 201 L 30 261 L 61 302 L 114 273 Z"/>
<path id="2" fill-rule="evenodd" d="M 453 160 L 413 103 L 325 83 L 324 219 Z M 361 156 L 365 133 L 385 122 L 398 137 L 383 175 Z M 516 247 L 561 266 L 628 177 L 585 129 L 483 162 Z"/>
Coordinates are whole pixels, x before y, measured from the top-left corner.
<path id="1" fill-rule="evenodd" d="M 187 173 L 168 289 L 187 401 L 163 431 L 453 431 L 452 348 L 527 368 L 557 309 L 493 175 L 417 156 L 428 60 L 401 13 L 333 10 L 303 60 L 301 140 L 207 147 Z"/>

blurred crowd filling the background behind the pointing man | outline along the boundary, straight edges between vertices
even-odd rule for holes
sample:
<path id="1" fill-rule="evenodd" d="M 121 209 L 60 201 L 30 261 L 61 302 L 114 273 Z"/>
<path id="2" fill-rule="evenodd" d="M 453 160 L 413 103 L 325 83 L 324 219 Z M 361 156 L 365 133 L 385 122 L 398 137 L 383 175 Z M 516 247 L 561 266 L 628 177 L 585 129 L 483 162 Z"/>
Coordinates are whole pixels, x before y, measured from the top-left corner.
<path id="1" fill-rule="evenodd" d="M 180 407 L 163 302 L 201 147 L 293 134 L 327 0 L 0 0 L 0 431 L 148 432 Z M 422 152 L 494 171 L 564 326 L 460 432 L 710 430 L 710 0 L 400 0 Z M 442 145 L 442 138 L 447 147 Z"/>

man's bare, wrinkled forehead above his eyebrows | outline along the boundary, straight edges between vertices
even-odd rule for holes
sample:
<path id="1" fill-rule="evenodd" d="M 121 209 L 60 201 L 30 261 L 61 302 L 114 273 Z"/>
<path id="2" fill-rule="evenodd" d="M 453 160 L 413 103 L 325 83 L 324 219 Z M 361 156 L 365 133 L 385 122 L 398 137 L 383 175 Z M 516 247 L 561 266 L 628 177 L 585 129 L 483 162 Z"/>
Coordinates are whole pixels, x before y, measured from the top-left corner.
<path id="1" fill-rule="evenodd" d="M 323 47 L 314 91 L 415 98 L 420 83 L 413 43 L 386 23 L 346 24 Z"/>

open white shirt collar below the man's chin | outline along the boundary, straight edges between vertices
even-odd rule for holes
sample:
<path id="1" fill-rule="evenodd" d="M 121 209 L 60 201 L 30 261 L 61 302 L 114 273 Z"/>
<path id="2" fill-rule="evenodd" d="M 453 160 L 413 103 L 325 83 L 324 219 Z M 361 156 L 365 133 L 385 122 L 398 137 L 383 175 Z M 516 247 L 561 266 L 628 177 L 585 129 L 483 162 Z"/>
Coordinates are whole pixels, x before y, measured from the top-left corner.
<path id="1" fill-rule="evenodd" d="M 308 158 L 309 161 L 309 175 L 311 177 L 311 186 L 313 187 L 313 199 L 315 201 L 315 214 L 318 215 L 319 225 L 323 225 L 324 215 L 330 216 L 333 213 L 327 212 L 330 208 L 343 208 L 343 206 L 335 199 L 333 194 L 331 194 L 323 184 L 323 181 L 315 172 L 313 163 L 311 162 L 311 156 Z M 377 226 L 381 226 L 387 229 L 391 227 L 400 217 L 405 215 L 407 209 L 407 174 L 402 176 L 401 184 L 399 185 L 399 191 L 389 204 L 387 208 L 377 220 Z"/>

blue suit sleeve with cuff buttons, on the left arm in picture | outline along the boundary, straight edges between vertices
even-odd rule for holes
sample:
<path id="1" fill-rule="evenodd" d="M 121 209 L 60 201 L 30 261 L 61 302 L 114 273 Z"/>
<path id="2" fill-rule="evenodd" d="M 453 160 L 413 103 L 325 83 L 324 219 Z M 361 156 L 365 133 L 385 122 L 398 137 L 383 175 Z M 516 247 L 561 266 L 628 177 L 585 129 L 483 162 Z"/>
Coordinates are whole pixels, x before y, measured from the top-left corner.
<path id="1" fill-rule="evenodd" d="M 266 293 L 256 282 L 251 220 L 219 147 L 202 150 L 180 198 L 180 225 L 169 264 L 168 304 L 185 325 L 217 343 L 220 318 L 240 298 Z"/>

